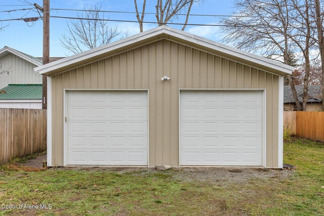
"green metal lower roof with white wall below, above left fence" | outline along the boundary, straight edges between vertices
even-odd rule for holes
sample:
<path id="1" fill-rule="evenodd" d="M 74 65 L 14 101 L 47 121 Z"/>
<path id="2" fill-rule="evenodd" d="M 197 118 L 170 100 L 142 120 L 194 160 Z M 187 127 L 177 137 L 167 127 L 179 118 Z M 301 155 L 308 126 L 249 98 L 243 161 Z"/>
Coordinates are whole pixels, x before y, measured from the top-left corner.
<path id="1" fill-rule="evenodd" d="M 0 108 L 42 109 L 42 84 L 9 84 L 0 90 Z"/>

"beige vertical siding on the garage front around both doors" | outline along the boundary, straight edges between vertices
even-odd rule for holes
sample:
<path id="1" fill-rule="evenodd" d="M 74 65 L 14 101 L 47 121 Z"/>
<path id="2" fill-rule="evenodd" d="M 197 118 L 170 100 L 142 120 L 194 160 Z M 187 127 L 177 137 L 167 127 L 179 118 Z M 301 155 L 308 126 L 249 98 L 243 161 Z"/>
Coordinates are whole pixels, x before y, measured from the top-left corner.
<path id="1" fill-rule="evenodd" d="M 170 81 L 161 81 L 163 76 Z M 149 166 L 179 166 L 179 89 L 266 89 L 266 166 L 278 166 L 278 76 L 159 40 L 52 76 L 52 162 L 63 165 L 64 89 L 149 89 Z"/>

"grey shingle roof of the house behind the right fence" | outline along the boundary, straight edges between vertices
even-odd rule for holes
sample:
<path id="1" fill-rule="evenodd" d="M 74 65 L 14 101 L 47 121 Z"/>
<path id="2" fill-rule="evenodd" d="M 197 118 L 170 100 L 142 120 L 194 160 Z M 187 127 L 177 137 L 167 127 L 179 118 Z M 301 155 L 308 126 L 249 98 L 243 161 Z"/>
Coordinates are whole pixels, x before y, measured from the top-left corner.
<path id="1" fill-rule="evenodd" d="M 302 101 L 304 85 L 295 85 L 295 88 L 299 101 Z M 320 89 L 320 85 L 308 85 L 307 102 L 321 102 L 322 100 L 320 97 Z M 284 103 L 295 103 L 295 99 L 290 85 L 284 86 Z"/>

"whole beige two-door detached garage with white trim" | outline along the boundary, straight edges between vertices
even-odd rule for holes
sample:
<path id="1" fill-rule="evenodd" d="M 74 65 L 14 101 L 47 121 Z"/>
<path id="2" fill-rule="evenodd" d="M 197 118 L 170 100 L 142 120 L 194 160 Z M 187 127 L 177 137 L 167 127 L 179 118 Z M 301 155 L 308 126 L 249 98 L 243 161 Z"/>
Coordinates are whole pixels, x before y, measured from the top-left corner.
<path id="1" fill-rule="evenodd" d="M 37 67 L 48 165 L 281 168 L 294 70 L 168 26 Z"/>

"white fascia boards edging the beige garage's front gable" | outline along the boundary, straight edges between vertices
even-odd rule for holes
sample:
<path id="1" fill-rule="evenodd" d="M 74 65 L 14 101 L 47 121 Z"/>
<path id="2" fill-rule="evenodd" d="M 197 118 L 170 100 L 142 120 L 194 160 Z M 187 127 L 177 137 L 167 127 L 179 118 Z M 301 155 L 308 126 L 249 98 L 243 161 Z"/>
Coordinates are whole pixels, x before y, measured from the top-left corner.
<path id="1" fill-rule="evenodd" d="M 218 42 L 215 42 L 213 40 L 206 39 L 204 37 L 200 37 L 194 34 L 190 34 L 184 31 L 180 31 L 178 29 L 171 28 L 169 26 L 159 26 L 157 28 L 150 29 L 148 31 L 141 32 L 139 34 L 135 34 L 130 37 L 126 37 L 124 39 L 112 42 L 110 44 L 79 53 L 43 66 L 39 66 L 34 68 L 35 72 L 39 72 L 39 74 L 45 74 L 56 70 L 65 66 L 68 66 L 70 64 L 74 64 L 80 61 L 87 60 L 89 58 L 96 57 L 98 55 L 113 51 L 118 48 L 122 48 L 124 46 L 131 45 L 135 42 L 147 39 L 149 37 L 153 37 L 159 34 L 168 34 L 174 37 L 178 37 L 180 39 L 187 40 L 189 42 L 192 42 L 196 45 L 204 46 L 210 49 L 213 49 L 215 51 L 225 53 L 227 55 L 235 56 L 240 59 L 244 59 L 246 61 L 250 61 L 256 64 L 264 65 L 269 68 L 273 68 L 278 71 L 282 71 L 283 73 L 292 74 L 292 72 L 295 70 L 294 67 L 282 64 L 280 62 L 276 62 L 274 60 L 266 59 L 264 57 L 251 54 L 245 51 L 238 50 L 236 48 L 232 48 L 223 44 L 220 44 Z M 280 75 L 280 74 L 278 74 Z"/>

